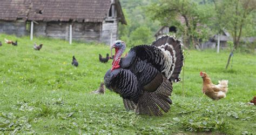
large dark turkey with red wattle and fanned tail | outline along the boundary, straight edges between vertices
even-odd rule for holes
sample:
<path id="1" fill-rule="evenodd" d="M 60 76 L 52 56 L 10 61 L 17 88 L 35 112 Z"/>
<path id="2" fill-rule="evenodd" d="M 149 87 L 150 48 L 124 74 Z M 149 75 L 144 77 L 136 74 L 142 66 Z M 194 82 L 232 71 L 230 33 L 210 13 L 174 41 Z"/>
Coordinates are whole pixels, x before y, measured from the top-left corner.
<path id="1" fill-rule="evenodd" d="M 133 47 L 121 58 L 126 45 L 117 40 L 112 48 L 116 53 L 112 68 L 104 77 L 107 89 L 123 98 L 127 111 L 136 114 L 161 116 L 170 110 L 172 82 L 180 80 L 183 50 L 180 40 L 163 36 L 151 45 Z M 112 54 L 111 54 L 112 56 Z"/>

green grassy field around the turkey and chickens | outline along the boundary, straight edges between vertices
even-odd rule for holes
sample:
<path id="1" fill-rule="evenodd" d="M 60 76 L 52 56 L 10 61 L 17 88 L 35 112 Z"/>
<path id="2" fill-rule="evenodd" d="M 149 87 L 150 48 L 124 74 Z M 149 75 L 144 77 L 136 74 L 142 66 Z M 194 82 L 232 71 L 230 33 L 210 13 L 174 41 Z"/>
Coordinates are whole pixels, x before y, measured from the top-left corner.
<path id="1" fill-rule="evenodd" d="M 18 40 L 18 46 L 3 43 Z M 186 51 L 184 81 L 174 84 L 173 104 L 163 117 L 126 112 L 122 98 L 106 91 L 91 95 L 111 62 L 98 54 L 109 47 L 64 40 L 0 35 L 0 134 L 2 133 L 225 133 L 255 134 L 256 56 L 235 53 L 225 70 L 228 51 Z M 43 43 L 41 51 L 33 42 Z M 128 51 L 128 50 L 127 50 Z M 79 66 L 71 65 L 75 55 Z M 214 83 L 229 80 L 227 97 L 213 101 L 201 93 L 205 71 Z"/>

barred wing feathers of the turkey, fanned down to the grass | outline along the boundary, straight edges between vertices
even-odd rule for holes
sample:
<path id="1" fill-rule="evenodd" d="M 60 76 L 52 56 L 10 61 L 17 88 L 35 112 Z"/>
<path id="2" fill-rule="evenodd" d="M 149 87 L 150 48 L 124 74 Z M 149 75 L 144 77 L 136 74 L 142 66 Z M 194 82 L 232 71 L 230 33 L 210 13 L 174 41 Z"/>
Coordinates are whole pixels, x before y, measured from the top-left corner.
<path id="1" fill-rule="evenodd" d="M 172 83 L 164 77 L 163 83 L 154 92 L 143 91 L 138 100 L 135 112 L 137 114 L 148 114 L 161 116 L 168 112 L 172 100 L 169 98 L 172 93 Z"/>

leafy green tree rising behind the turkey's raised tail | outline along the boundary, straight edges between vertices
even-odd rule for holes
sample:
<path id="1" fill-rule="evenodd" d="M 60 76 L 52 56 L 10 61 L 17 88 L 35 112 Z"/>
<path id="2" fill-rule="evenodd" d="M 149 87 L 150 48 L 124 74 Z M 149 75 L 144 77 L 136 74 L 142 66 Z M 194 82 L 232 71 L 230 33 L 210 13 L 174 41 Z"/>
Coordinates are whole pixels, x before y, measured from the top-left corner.
<path id="1" fill-rule="evenodd" d="M 189 0 L 160 0 L 147 7 L 147 13 L 153 20 L 160 21 L 161 25 L 175 25 L 178 35 L 183 36 L 189 46 L 196 46 L 199 39 L 205 40 L 211 35 L 206 25 L 212 16 L 211 10 L 211 6 L 201 6 Z"/>

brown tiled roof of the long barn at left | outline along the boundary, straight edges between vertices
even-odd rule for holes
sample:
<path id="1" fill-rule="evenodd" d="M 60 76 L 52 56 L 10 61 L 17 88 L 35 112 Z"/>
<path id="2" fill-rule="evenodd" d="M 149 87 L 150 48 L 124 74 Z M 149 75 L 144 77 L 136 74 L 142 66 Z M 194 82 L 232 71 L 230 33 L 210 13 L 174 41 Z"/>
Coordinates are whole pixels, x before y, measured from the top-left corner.
<path id="1" fill-rule="evenodd" d="M 126 24 L 119 0 L 114 0 L 114 3 L 118 19 Z M 111 0 L 1 0 L 0 19 L 103 22 L 111 4 Z"/>

